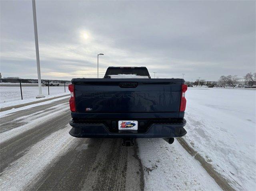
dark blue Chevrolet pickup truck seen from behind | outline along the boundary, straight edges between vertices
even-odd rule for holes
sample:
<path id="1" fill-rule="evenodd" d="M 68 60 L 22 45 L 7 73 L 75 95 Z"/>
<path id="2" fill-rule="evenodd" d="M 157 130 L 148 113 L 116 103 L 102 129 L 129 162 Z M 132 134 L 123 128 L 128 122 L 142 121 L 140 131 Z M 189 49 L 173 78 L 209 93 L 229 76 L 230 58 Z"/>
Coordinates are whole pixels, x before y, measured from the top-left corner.
<path id="1" fill-rule="evenodd" d="M 151 79 L 146 67 L 108 67 L 103 79 L 72 79 L 70 110 L 78 138 L 133 138 L 184 136 L 186 120 L 184 79 Z"/>

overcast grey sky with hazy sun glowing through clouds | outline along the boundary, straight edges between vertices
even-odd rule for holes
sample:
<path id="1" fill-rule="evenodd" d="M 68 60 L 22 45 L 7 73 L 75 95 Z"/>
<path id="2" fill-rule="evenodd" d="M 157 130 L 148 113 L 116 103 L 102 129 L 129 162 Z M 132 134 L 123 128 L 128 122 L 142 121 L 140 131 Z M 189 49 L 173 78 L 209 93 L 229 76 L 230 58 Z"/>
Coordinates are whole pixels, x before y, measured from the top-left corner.
<path id="1" fill-rule="evenodd" d="M 146 66 L 160 78 L 256 71 L 255 1 L 38 1 L 42 79 Z M 3 77 L 37 78 L 32 1 L 0 1 Z"/>

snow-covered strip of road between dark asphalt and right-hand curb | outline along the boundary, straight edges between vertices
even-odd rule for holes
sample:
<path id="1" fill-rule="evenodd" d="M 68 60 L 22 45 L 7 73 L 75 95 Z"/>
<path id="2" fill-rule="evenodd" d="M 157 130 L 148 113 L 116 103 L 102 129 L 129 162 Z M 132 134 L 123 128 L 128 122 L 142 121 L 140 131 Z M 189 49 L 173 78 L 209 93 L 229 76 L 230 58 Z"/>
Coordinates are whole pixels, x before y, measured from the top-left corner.
<path id="1" fill-rule="evenodd" d="M 138 139 L 144 165 L 145 190 L 222 190 L 186 150 L 175 141 Z"/>

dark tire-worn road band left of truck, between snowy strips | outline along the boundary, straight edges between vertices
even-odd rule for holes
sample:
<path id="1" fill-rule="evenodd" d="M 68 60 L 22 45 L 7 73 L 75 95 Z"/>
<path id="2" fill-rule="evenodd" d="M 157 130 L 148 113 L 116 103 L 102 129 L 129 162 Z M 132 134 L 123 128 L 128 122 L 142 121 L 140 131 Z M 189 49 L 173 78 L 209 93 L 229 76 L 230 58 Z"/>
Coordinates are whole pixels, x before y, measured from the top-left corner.
<path id="1" fill-rule="evenodd" d="M 48 109 L 52 108 L 50 106 L 51 105 L 48 105 Z M 54 104 L 53 107 L 56 107 L 56 104 Z M 25 111 L 25 114 L 32 115 L 33 113 L 37 113 L 38 110 L 40 110 L 40 108 L 31 108 L 29 112 Z M 41 113 L 40 115 L 44 115 L 44 113 Z M 14 120 L 20 118 L 20 113 L 18 113 L 17 118 L 16 115 L 12 116 L 12 118 Z M 27 119 L 29 120 L 29 118 Z M 8 118 L 8 120 L 10 120 L 10 118 Z M 69 120 L 70 113 L 68 112 L 68 110 L 64 112 L 62 112 L 62 110 L 59 110 L 59 113 L 56 115 L 48 114 L 48 119 L 46 120 L 47 122 L 41 121 L 33 122 L 32 124 L 28 123 L 26 129 L 19 130 L 20 128 L 13 124 L 14 128 L 12 128 L 11 131 L 15 131 L 15 134 L 6 137 L 5 141 L 0 144 L 0 172 L 8 167 L 10 163 L 24 156 L 29 151 L 31 146 L 46 138 L 55 131 L 64 128 L 68 124 Z M 12 122 L 10 121 L 10 123 Z M 10 131 L 6 131 L 4 133 L 8 132 Z"/>

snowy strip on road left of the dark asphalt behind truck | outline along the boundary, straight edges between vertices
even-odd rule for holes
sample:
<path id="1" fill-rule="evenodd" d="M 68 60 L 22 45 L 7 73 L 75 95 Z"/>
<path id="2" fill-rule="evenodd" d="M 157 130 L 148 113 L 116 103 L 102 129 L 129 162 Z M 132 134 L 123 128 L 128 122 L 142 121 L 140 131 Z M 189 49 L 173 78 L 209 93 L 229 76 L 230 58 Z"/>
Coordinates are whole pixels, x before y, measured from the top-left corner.
<path id="1" fill-rule="evenodd" d="M 23 190 L 34 181 L 52 161 L 70 150 L 75 142 L 70 126 L 60 129 L 33 145 L 29 151 L 0 173 L 0 190 Z"/>

